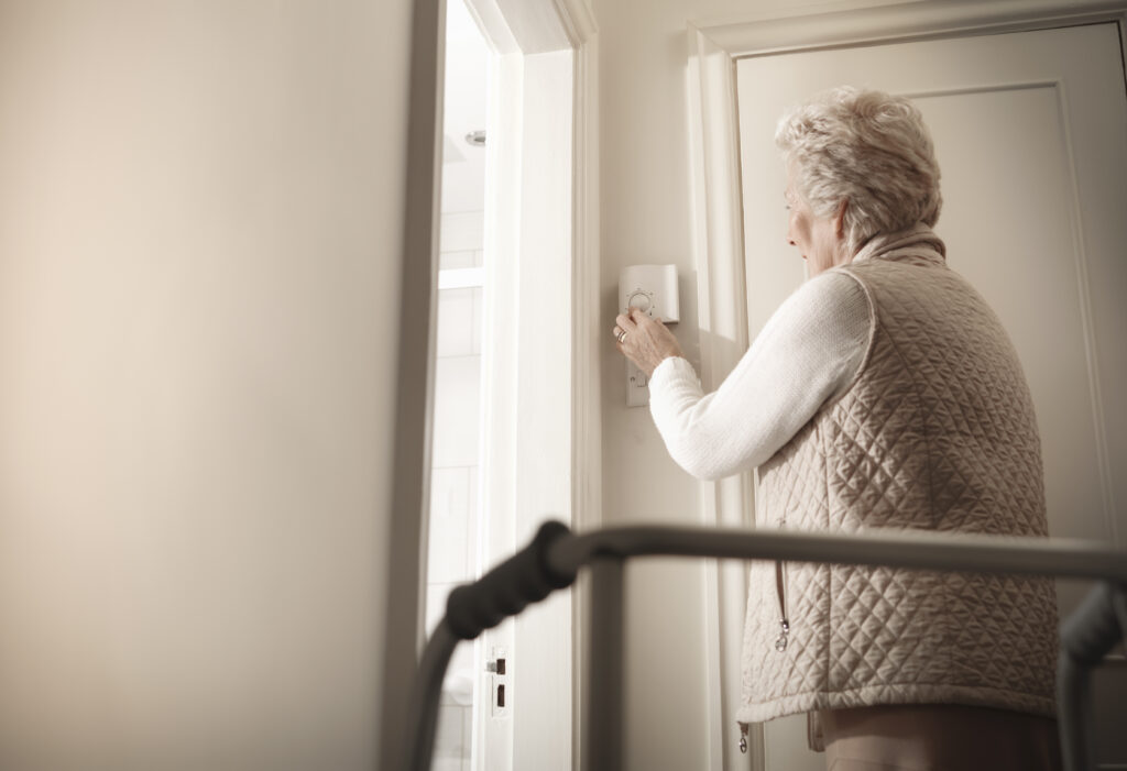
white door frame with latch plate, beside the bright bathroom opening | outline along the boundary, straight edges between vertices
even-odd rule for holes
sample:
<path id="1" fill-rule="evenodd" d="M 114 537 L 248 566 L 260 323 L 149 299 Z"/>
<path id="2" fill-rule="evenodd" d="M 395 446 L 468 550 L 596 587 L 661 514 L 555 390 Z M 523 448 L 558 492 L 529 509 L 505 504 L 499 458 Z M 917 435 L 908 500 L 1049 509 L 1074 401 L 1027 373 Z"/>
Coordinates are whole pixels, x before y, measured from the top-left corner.
<path id="1" fill-rule="evenodd" d="M 465 2 L 492 51 L 478 543 L 487 568 L 547 518 L 573 529 L 601 520 L 597 48 L 587 0 Z M 583 619 L 583 594 L 565 592 L 479 637 L 478 661 L 495 646 L 511 656 L 513 710 L 488 723 L 479 676 L 473 768 L 483 771 L 487 755 L 499 768 L 536 755 L 556 759 L 538 768 L 578 768 Z M 534 690 L 522 688 L 530 681 Z"/>

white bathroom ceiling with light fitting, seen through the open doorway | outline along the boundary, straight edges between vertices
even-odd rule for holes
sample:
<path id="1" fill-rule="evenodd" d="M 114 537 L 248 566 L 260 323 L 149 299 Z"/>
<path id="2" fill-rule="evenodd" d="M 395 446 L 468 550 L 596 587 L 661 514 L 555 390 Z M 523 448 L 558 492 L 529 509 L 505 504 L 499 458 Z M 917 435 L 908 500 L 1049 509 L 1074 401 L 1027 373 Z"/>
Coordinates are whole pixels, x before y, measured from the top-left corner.
<path id="1" fill-rule="evenodd" d="M 486 127 L 489 48 L 463 0 L 446 3 L 446 91 L 443 118 L 442 210 L 485 208 L 486 150 L 465 135 Z"/>

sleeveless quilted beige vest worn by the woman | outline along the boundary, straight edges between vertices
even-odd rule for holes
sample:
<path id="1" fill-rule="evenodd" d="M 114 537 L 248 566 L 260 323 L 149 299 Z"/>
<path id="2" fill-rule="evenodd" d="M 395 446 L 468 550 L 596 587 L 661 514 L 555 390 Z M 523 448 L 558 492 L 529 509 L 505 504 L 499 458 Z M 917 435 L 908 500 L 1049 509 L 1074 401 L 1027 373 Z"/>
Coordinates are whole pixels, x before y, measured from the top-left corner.
<path id="1" fill-rule="evenodd" d="M 761 526 L 1047 535 L 1029 389 L 983 298 L 919 243 L 838 270 L 873 310 L 867 358 L 760 467 Z M 814 564 L 781 577 L 782 592 L 774 564 L 752 565 L 738 720 L 924 702 L 1054 714 L 1050 581 Z"/>

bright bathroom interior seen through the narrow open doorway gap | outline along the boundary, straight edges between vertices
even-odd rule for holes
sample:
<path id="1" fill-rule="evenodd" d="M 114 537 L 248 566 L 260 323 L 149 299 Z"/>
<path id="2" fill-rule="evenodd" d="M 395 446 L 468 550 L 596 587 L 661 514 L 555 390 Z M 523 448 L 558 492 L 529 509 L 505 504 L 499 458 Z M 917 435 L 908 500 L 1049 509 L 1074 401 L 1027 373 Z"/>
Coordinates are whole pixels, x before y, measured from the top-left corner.
<path id="1" fill-rule="evenodd" d="M 490 52 L 463 0 L 446 3 L 445 44 L 427 635 L 441 619 L 450 591 L 480 573 L 477 544 Z M 473 768 L 479 671 L 474 644 L 459 645 L 442 689 L 435 771 Z"/>

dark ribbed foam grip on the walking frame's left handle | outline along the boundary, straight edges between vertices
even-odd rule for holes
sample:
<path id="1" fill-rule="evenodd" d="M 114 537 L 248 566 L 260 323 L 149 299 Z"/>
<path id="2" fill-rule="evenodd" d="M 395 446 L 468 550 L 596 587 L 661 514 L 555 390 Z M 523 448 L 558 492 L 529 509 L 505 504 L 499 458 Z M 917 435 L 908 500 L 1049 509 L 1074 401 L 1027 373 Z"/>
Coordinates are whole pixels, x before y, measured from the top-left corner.
<path id="1" fill-rule="evenodd" d="M 548 548 L 570 534 L 562 522 L 544 522 L 531 544 L 473 583 L 454 589 L 446 600 L 446 624 L 454 636 L 473 639 L 525 606 L 570 586 L 576 571 L 561 573 L 548 564 Z"/>

